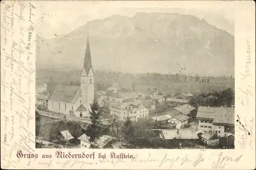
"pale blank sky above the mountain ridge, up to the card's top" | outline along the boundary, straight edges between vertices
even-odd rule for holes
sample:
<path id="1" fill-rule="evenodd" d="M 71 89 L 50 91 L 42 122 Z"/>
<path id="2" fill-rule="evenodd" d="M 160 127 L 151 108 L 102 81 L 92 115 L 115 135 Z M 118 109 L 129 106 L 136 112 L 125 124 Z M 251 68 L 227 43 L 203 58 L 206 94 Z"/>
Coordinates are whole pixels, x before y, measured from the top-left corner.
<path id="1" fill-rule="evenodd" d="M 36 8 L 42 15 L 37 34 L 53 38 L 55 33 L 68 34 L 94 19 L 115 14 L 133 17 L 137 12 L 162 12 L 204 18 L 210 25 L 234 35 L 235 6 L 235 3 L 218 1 L 38 1 Z"/>

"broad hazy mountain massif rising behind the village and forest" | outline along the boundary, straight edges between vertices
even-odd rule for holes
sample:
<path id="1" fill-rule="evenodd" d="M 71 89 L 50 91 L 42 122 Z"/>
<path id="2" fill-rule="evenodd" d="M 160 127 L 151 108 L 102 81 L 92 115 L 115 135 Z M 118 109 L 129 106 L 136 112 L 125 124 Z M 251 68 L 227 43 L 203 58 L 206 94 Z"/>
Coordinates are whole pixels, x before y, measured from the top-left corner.
<path id="1" fill-rule="evenodd" d="M 94 69 L 234 75 L 231 34 L 193 15 L 142 12 L 92 20 L 53 39 L 37 36 L 36 67 L 81 69 L 87 32 Z"/>

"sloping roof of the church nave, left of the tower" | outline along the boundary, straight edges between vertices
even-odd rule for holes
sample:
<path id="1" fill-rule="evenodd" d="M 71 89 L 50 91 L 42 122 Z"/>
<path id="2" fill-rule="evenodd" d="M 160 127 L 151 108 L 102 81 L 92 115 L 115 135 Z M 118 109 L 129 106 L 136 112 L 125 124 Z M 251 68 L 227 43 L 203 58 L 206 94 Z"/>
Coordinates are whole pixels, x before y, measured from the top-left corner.
<path id="1" fill-rule="evenodd" d="M 49 97 L 51 101 L 76 103 L 81 94 L 80 86 L 56 85 Z"/>

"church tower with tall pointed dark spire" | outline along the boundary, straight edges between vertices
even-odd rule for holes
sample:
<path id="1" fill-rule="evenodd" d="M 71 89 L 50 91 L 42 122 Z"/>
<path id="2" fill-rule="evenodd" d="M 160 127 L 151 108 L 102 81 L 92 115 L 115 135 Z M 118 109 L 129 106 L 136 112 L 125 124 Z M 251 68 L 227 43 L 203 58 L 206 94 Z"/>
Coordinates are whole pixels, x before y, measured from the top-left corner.
<path id="1" fill-rule="evenodd" d="M 86 55 L 84 56 L 81 73 L 81 104 L 88 110 L 94 100 L 94 72 L 92 68 L 91 51 L 89 44 L 89 33 L 87 35 Z"/>

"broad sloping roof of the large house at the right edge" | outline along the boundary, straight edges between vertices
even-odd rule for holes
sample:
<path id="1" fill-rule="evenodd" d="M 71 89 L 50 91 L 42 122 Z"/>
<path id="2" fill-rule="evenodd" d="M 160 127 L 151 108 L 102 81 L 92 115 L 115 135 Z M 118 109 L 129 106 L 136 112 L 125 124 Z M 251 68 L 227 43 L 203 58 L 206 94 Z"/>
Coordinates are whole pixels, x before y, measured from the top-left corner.
<path id="1" fill-rule="evenodd" d="M 232 108 L 199 106 L 197 117 L 214 119 L 213 124 L 234 125 L 234 109 Z"/>

